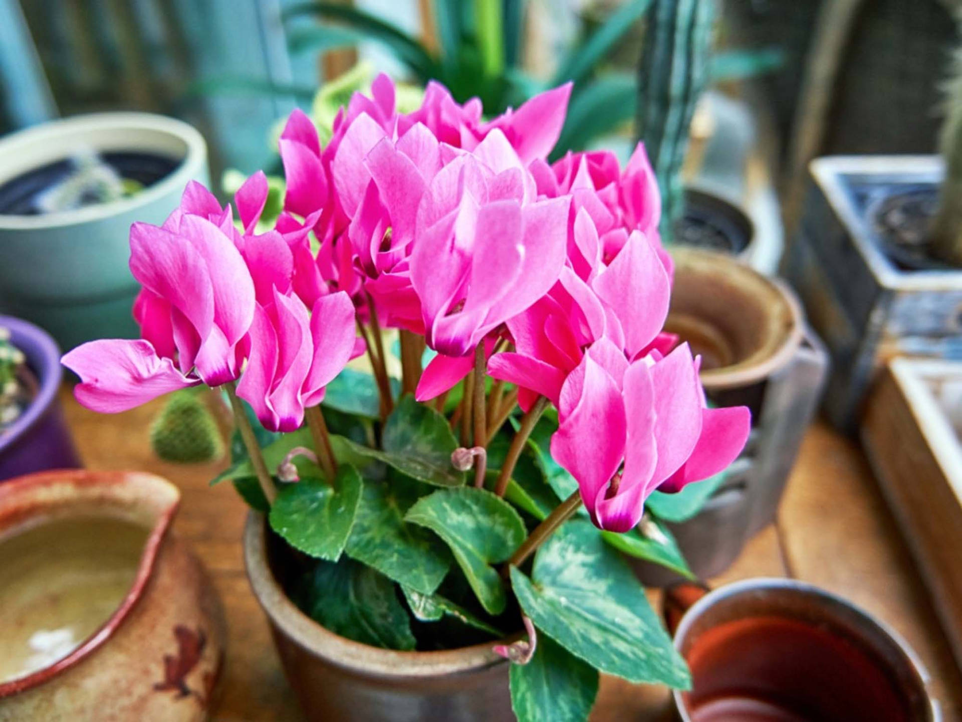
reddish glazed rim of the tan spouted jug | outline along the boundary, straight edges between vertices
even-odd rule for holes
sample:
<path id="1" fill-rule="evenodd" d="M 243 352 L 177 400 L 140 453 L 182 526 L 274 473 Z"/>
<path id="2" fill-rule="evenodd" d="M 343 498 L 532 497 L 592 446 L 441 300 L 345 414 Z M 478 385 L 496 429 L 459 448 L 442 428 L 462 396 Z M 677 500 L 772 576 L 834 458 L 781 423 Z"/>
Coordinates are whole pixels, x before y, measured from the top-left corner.
<path id="1" fill-rule="evenodd" d="M 32 672 L 26 677 L 17 677 L 8 682 L 0 683 L 0 700 L 48 682 L 61 672 L 90 657 L 114 635 L 114 632 L 127 619 L 143 595 L 147 582 L 153 575 L 161 544 L 165 540 L 170 524 L 180 505 L 180 490 L 164 477 L 153 474 L 123 471 L 89 472 L 83 469 L 45 471 L 28 474 L 24 477 L 15 477 L 0 484 L 0 529 L 2 529 L 5 521 L 12 526 L 16 526 L 19 520 L 29 518 L 31 513 L 42 511 L 45 508 L 44 501 L 46 499 L 52 500 L 54 497 L 44 499 L 41 496 L 39 499 L 31 499 L 32 492 L 36 492 L 38 488 L 53 487 L 59 484 L 74 486 L 87 491 L 90 491 L 92 487 L 102 487 L 108 492 L 108 497 L 109 492 L 117 485 L 143 484 L 148 487 L 148 491 L 159 492 L 161 495 L 165 495 L 166 499 L 162 502 L 159 509 L 160 513 L 144 542 L 134 582 L 120 605 L 114 609 L 114 613 L 66 657 Z M 22 506 L 17 505 L 17 499 L 20 497 L 23 498 Z"/>

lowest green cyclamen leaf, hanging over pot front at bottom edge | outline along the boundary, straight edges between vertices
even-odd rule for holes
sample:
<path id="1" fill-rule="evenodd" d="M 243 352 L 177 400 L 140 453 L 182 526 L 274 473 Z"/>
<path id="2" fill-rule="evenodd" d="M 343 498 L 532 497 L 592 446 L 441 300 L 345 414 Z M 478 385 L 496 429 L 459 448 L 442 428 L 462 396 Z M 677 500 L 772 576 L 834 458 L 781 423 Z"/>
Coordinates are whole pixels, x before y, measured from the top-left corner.
<path id="1" fill-rule="evenodd" d="M 544 634 L 527 664 L 511 665 L 511 707 L 518 722 L 583 722 L 598 692 L 598 673 Z"/>

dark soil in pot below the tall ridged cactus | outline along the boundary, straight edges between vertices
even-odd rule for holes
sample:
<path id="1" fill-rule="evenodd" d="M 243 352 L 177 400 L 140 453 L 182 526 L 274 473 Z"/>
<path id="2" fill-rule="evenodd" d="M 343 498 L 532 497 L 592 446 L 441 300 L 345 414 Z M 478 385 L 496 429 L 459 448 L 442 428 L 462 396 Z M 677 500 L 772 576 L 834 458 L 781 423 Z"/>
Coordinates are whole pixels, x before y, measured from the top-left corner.
<path id="1" fill-rule="evenodd" d="M 689 190 L 685 212 L 674 225 L 672 243 L 737 256 L 751 242 L 751 222 L 721 198 Z"/>

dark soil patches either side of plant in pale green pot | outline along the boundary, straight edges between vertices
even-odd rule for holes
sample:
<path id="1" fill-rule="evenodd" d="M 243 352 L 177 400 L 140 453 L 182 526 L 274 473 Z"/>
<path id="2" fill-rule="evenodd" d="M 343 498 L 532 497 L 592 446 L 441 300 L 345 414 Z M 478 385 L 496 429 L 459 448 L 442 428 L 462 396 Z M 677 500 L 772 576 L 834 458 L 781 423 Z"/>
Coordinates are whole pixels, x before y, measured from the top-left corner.
<path id="1" fill-rule="evenodd" d="M 144 188 L 164 180 L 182 163 L 176 158 L 138 151 L 100 153 L 99 158 L 114 168 L 121 178 L 137 181 Z M 42 213 L 37 206 L 40 193 L 62 182 L 73 170 L 73 162 L 64 158 L 3 183 L 0 185 L 0 215 L 36 216 Z"/>

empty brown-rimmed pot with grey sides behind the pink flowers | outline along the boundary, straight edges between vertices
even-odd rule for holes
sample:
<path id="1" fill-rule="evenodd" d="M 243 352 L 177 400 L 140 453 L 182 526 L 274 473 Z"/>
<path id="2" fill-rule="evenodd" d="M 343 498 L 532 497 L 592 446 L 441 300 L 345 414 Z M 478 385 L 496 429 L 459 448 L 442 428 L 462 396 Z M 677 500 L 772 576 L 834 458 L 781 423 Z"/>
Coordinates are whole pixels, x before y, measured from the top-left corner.
<path id="1" fill-rule="evenodd" d="M 701 356 L 709 400 L 747 405 L 752 417 L 746 449 L 716 494 L 693 519 L 669 524 L 692 570 L 710 578 L 774 520 L 827 362 L 781 281 L 720 253 L 682 247 L 671 253 L 675 274 L 666 330 Z M 642 575 L 650 585 L 677 580 L 650 565 Z"/>

